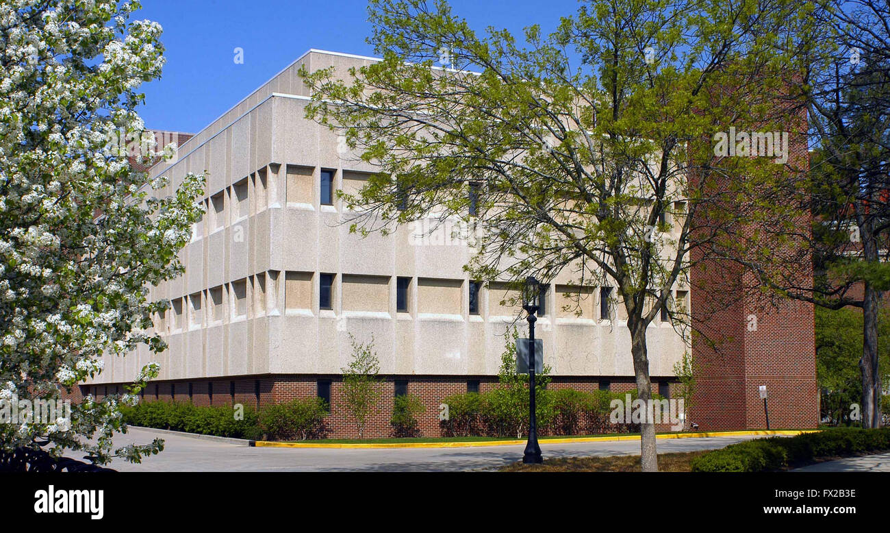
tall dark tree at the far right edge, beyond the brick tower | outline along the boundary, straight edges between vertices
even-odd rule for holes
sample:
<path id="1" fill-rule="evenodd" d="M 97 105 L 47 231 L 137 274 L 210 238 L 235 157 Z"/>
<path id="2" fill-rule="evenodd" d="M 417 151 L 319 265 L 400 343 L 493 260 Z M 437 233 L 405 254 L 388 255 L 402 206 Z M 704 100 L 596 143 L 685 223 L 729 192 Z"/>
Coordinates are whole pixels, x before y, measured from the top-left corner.
<path id="1" fill-rule="evenodd" d="M 789 87 L 805 108 L 814 145 L 808 186 L 815 283 L 759 274 L 765 285 L 792 298 L 828 309 L 862 309 L 862 423 L 878 427 L 878 316 L 890 290 L 890 5 L 818 0 L 812 6 L 813 24 L 798 46 L 808 61 L 800 76 L 789 78 Z"/>

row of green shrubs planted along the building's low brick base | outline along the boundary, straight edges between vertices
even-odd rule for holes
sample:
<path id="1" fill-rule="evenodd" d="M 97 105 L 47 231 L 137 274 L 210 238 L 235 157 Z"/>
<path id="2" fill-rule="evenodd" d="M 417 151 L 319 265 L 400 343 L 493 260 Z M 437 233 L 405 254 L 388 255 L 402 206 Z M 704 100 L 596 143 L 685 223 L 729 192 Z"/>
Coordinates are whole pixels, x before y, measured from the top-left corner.
<path id="1" fill-rule="evenodd" d="M 578 435 L 606 430 L 636 431 L 638 424 L 611 427 L 612 399 L 624 401 L 626 392 L 575 389 L 540 389 L 538 428 L 542 435 Z M 636 390 L 629 392 L 636 398 Z M 655 399 L 660 399 L 654 395 Z M 442 398 L 449 417 L 441 422 L 446 436 L 522 437 L 529 426 L 529 391 L 521 386 L 498 386 L 485 393 Z M 416 397 L 395 400 L 390 422 L 397 437 L 416 436 L 417 415 L 423 404 Z M 150 401 L 124 408 L 125 422 L 147 428 L 186 431 L 237 439 L 313 439 L 326 436 L 328 406 L 320 398 L 303 398 L 287 404 L 263 406 L 257 412 L 244 406 L 243 419 L 235 419 L 232 406 L 195 406 L 190 402 Z"/>

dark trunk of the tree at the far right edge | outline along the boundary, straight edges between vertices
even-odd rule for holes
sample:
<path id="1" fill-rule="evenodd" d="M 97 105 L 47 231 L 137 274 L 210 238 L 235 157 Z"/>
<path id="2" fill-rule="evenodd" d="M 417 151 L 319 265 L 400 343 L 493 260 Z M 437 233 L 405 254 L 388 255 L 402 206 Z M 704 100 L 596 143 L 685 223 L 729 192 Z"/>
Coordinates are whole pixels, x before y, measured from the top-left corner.
<path id="1" fill-rule="evenodd" d="M 880 292 L 865 282 L 862 294 L 862 426 L 877 428 L 881 423 L 881 376 L 878 373 L 878 309 Z"/>

